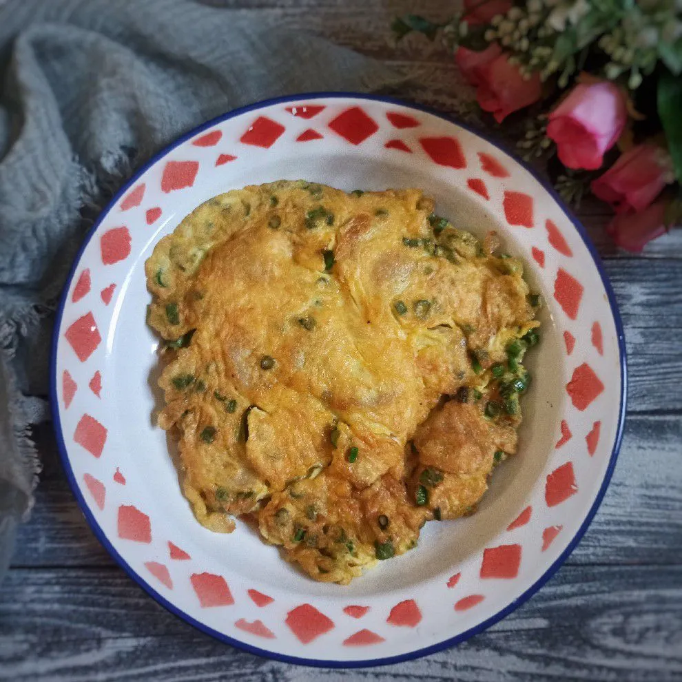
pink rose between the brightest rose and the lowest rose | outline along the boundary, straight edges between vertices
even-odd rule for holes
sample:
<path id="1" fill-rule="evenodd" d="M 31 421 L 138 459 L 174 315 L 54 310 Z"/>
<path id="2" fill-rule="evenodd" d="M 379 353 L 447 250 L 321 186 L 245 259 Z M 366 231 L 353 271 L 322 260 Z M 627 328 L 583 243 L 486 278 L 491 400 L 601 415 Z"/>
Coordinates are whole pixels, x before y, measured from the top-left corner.
<path id="1" fill-rule="evenodd" d="M 665 149 L 637 145 L 592 180 L 592 194 L 608 201 L 616 213 L 643 211 L 673 180 L 672 159 Z"/>

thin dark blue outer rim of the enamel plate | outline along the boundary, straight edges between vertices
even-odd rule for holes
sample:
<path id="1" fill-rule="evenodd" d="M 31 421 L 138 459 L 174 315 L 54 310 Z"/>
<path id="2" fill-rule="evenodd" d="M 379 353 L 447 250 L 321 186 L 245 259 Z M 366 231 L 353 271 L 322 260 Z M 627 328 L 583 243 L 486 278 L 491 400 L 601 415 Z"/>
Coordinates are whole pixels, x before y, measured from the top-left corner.
<path id="1" fill-rule="evenodd" d="M 196 619 L 194 619 L 192 616 L 190 616 L 188 613 L 183 611 L 181 608 L 176 606 L 174 603 L 163 597 L 159 592 L 157 592 L 141 575 L 130 566 L 130 564 L 127 563 L 127 561 L 118 553 L 118 551 L 114 548 L 114 546 L 111 544 L 109 539 L 107 538 L 107 535 L 103 528 L 99 525 L 98 521 L 95 519 L 94 515 L 90 512 L 90 508 L 87 505 L 87 502 L 85 501 L 85 497 L 81 493 L 80 486 L 78 482 L 76 482 L 76 477 L 74 476 L 73 469 L 70 464 L 70 458 L 68 455 L 68 451 L 66 448 L 66 444 L 64 441 L 64 436 L 63 436 L 63 431 L 61 428 L 61 420 L 60 420 L 60 415 L 59 415 L 59 400 L 58 400 L 58 393 L 57 393 L 57 383 L 58 383 L 58 378 L 57 378 L 57 367 L 56 367 L 56 353 L 57 353 L 57 345 L 59 342 L 59 336 L 60 336 L 60 329 L 61 329 L 61 322 L 62 322 L 62 316 L 63 316 L 63 311 L 65 308 L 65 305 L 67 304 L 67 298 L 68 298 L 68 291 L 71 287 L 72 280 L 74 279 L 74 276 L 76 275 L 76 271 L 79 267 L 79 264 L 81 262 L 81 258 L 83 256 L 83 252 L 85 251 L 85 248 L 87 245 L 90 243 L 92 240 L 94 234 L 96 233 L 97 229 L 99 229 L 99 226 L 105 219 L 105 217 L 110 213 L 110 211 L 114 208 L 118 200 L 126 194 L 126 192 L 133 186 L 135 183 L 141 178 L 145 172 L 149 168 L 151 168 L 153 165 L 158 163 L 158 161 L 161 161 L 161 159 L 169 154 L 169 152 L 172 152 L 173 149 L 176 147 L 180 146 L 181 144 L 185 143 L 187 140 L 194 138 L 196 135 L 199 133 L 203 132 L 204 130 L 207 130 L 207 128 L 213 127 L 217 123 L 222 123 L 223 121 L 228 121 L 230 118 L 235 118 L 236 116 L 240 116 L 242 114 L 246 114 L 248 112 L 252 111 L 257 111 L 265 107 L 269 107 L 272 105 L 277 105 L 277 104 L 284 104 L 284 103 L 289 103 L 289 102 L 298 102 L 302 100 L 313 100 L 313 99 L 355 99 L 355 100 L 364 100 L 364 101 L 375 101 L 375 102 L 380 102 L 380 103 L 385 103 L 385 104 L 393 104 L 397 106 L 402 106 L 406 107 L 408 109 L 416 110 L 419 112 L 424 112 L 426 114 L 431 114 L 433 116 L 437 116 L 437 118 L 441 118 L 444 121 L 447 121 L 448 123 L 454 123 L 455 125 L 461 127 L 462 129 L 470 132 L 471 134 L 478 136 L 479 138 L 482 138 L 484 141 L 486 141 L 488 144 L 493 145 L 493 147 L 499 149 L 501 152 L 504 152 L 504 154 L 507 154 L 510 156 L 510 158 L 513 159 L 516 163 L 518 163 L 522 168 L 524 168 L 528 173 L 530 173 L 535 180 L 543 187 L 543 189 L 546 190 L 550 194 L 550 196 L 555 200 L 561 211 L 564 212 L 566 215 L 566 218 L 570 220 L 570 223 L 572 223 L 573 227 L 577 230 L 580 238 L 583 240 L 583 243 L 585 244 L 586 248 L 588 249 L 588 252 L 590 256 L 592 257 L 592 262 L 594 262 L 595 267 L 597 268 L 597 273 L 599 273 L 599 277 L 601 278 L 602 285 L 604 287 L 604 290 L 606 291 L 606 296 L 608 299 L 608 304 L 610 307 L 611 315 L 614 321 L 614 326 L 616 328 L 617 332 L 617 338 L 618 338 L 618 350 L 619 350 L 619 365 L 620 365 L 620 380 L 621 380 L 621 391 L 620 391 L 620 404 L 619 404 L 619 409 L 618 409 L 618 423 L 617 423 L 617 428 L 616 428 L 616 434 L 614 437 L 614 442 L 613 442 L 613 447 L 611 451 L 611 455 L 609 457 L 609 462 L 608 466 L 606 468 L 606 472 L 604 473 L 603 480 L 601 482 L 601 486 L 599 487 L 599 491 L 597 493 L 597 496 L 595 497 L 595 501 L 592 503 L 592 506 L 590 507 L 590 510 L 588 511 L 585 519 L 583 520 L 582 524 L 576 531 L 575 535 L 572 537 L 570 542 L 568 543 L 568 546 L 566 546 L 566 549 L 564 549 L 563 552 L 557 557 L 557 559 L 550 564 L 550 566 L 543 572 L 543 574 L 519 597 L 514 599 L 512 602 L 510 602 L 505 608 L 502 608 L 499 610 L 497 613 L 493 614 L 492 616 L 488 617 L 481 623 L 478 623 L 476 626 L 473 628 L 469 628 L 468 630 L 465 630 L 464 632 L 460 632 L 459 634 L 455 635 L 454 637 L 449 637 L 448 639 L 444 639 L 443 641 L 440 641 L 436 644 L 432 644 L 428 647 L 420 648 L 420 649 L 415 649 L 410 652 L 406 652 L 404 654 L 397 654 L 395 656 L 389 656 L 389 657 L 381 657 L 381 658 L 374 658 L 374 659 L 363 659 L 363 660 L 358 660 L 358 661 L 338 661 L 338 660 L 324 660 L 324 659 L 309 659 L 309 658 L 304 658 L 304 657 L 298 657 L 298 656 L 289 656 L 287 654 L 280 654 L 278 652 L 273 652 L 268 649 L 256 647 L 254 645 L 251 645 L 245 641 L 240 641 L 238 639 L 234 639 L 233 637 L 230 637 L 227 634 L 224 634 L 223 632 L 218 632 L 218 630 L 215 630 L 214 628 L 211 628 L 204 623 L 200 623 Z M 499 141 L 491 138 L 487 133 L 481 132 L 479 130 L 476 130 L 475 127 L 472 125 L 468 125 L 466 123 L 462 123 L 461 121 L 457 121 L 457 119 L 453 116 L 448 116 L 448 114 L 444 114 L 442 112 L 438 112 L 437 110 L 434 110 L 432 107 L 428 107 L 425 105 L 420 105 L 417 103 L 412 103 L 408 101 L 404 101 L 400 98 L 393 97 L 393 96 L 387 96 L 387 95 L 375 95 L 375 94 L 365 94 L 365 93 L 358 93 L 358 92 L 344 92 L 344 91 L 336 91 L 336 92 L 302 92 L 300 94 L 291 94 L 291 95 L 283 95 L 283 96 L 278 96 L 278 97 L 272 97 L 269 99 L 264 99 L 249 105 L 245 105 L 242 107 L 237 107 L 236 109 L 233 109 L 229 112 L 226 112 L 225 114 L 220 114 L 219 116 L 215 116 L 214 118 L 211 118 L 209 121 L 206 121 L 205 123 L 202 123 L 191 130 L 188 130 L 187 132 L 183 133 L 182 135 L 178 136 L 175 138 L 172 142 L 170 142 L 168 145 L 160 149 L 156 154 L 154 154 L 151 158 L 149 158 L 149 161 L 144 163 L 141 167 L 139 167 L 136 172 L 130 177 L 129 180 L 125 184 L 123 184 L 114 196 L 110 199 L 109 202 L 107 202 L 107 205 L 102 209 L 101 213 L 99 214 L 98 218 L 90 227 L 90 229 L 87 231 L 85 236 L 83 237 L 83 242 L 81 243 L 81 246 L 79 247 L 79 250 L 74 256 L 74 260 L 72 262 L 68 277 L 65 280 L 63 290 L 61 291 L 61 295 L 59 297 L 59 305 L 56 309 L 56 316 L 54 318 L 54 327 L 52 329 L 52 339 L 50 342 L 50 393 L 49 393 L 49 398 L 50 398 L 50 412 L 52 415 L 52 426 L 54 428 L 54 433 L 56 436 L 56 445 L 57 449 L 59 450 L 59 457 L 61 459 L 61 465 L 63 467 L 63 470 L 66 474 L 66 477 L 69 482 L 69 486 L 72 490 L 72 493 L 74 494 L 74 497 L 76 498 L 76 502 L 79 505 L 79 508 L 81 509 L 81 512 L 85 516 L 85 520 L 87 521 L 87 524 L 90 526 L 92 532 L 94 533 L 96 539 L 99 540 L 100 544 L 107 550 L 107 552 L 110 554 L 110 556 L 116 561 L 116 563 L 123 568 L 123 570 L 127 573 L 127 575 L 132 578 L 132 580 L 138 584 L 147 594 L 152 597 L 155 601 L 157 601 L 161 606 L 163 606 L 166 610 L 171 612 L 174 616 L 178 617 L 179 619 L 182 619 L 186 623 L 189 623 L 189 625 L 194 626 L 194 628 L 197 628 L 204 634 L 208 634 L 211 637 L 214 637 L 215 639 L 218 639 L 219 641 L 222 641 L 223 643 L 227 643 L 231 646 L 234 646 L 238 649 L 247 651 L 251 654 L 256 654 L 257 656 L 260 657 L 265 657 L 268 659 L 273 659 L 276 661 L 280 661 L 282 663 L 293 663 L 296 665 L 308 665 L 311 667 L 315 668 L 369 668 L 369 667 L 375 667 L 378 665 L 391 665 L 393 663 L 401 663 L 403 661 L 412 661 L 414 659 L 419 659 L 424 656 L 428 656 L 429 654 L 433 654 L 435 652 L 442 651 L 447 648 L 451 648 L 455 644 L 459 644 L 463 641 L 466 641 L 467 639 L 470 639 L 473 637 L 475 634 L 479 634 L 480 632 L 484 632 L 484 630 L 487 630 L 490 626 L 493 626 L 495 623 L 498 621 L 502 620 L 508 614 L 511 612 L 515 611 L 521 604 L 525 603 L 530 599 L 530 597 L 533 597 L 535 595 L 535 592 L 537 592 L 540 588 L 542 588 L 549 580 L 552 578 L 553 575 L 559 570 L 559 568 L 564 564 L 564 561 L 568 559 L 570 554 L 575 550 L 577 544 L 579 541 L 582 539 L 583 535 L 585 535 L 587 529 L 589 528 L 590 524 L 592 523 L 592 519 L 594 519 L 597 510 L 599 509 L 599 506 L 601 506 L 601 502 L 603 501 L 604 495 L 606 495 L 606 490 L 608 489 L 608 486 L 611 481 L 611 477 L 613 475 L 614 468 L 616 466 L 616 462 L 618 459 L 619 451 L 621 448 L 621 443 L 623 440 L 623 429 L 625 426 L 625 420 L 626 420 L 626 404 L 627 404 L 627 395 L 628 395 L 628 367 L 627 367 L 627 355 L 626 355 L 626 343 L 625 343 L 625 332 L 623 330 L 623 321 L 621 319 L 621 314 L 619 311 L 619 307 L 613 292 L 613 289 L 611 287 L 610 281 L 608 279 L 608 276 L 606 275 L 606 271 L 603 268 L 603 264 L 601 262 L 601 257 L 597 253 L 597 249 L 595 248 L 595 245 L 592 243 L 592 240 L 590 239 L 590 236 L 588 235 L 585 227 L 583 227 L 582 223 L 578 220 L 576 216 L 572 214 L 572 211 L 568 209 L 568 207 L 564 204 L 564 201 L 561 199 L 559 194 L 555 191 L 555 189 L 544 179 L 541 177 L 539 172 L 537 172 L 533 167 L 530 167 L 528 163 L 522 161 L 518 156 L 512 152 L 510 149 L 506 147 L 503 143 L 499 143 Z"/>

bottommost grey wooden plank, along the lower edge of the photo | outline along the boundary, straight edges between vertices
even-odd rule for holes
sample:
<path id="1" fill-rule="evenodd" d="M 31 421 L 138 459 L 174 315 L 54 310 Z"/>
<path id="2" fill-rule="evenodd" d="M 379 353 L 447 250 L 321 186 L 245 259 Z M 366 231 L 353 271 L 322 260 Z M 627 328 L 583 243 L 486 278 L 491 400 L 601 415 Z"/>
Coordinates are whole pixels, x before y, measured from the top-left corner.
<path id="1" fill-rule="evenodd" d="M 614 680 L 682 675 L 676 567 L 572 567 L 486 632 L 418 661 L 314 670 L 223 645 L 119 570 L 13 570 L 0 590 L 0 680 L 338 682 Z"/>

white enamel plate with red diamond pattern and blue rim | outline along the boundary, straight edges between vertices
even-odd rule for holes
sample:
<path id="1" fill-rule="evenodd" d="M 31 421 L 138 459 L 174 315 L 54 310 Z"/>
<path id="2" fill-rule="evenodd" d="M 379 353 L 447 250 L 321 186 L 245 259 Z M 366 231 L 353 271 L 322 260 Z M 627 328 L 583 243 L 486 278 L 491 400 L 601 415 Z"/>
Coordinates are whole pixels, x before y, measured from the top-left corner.
<path id="1" fill-rule="evenodd" d="M 194 207 L 228 189 L 305 178 L 422 187 L 437 213 L 497 229 L 546 307 L 530 353 L 520 450 L 478 512 L 424 526 L 416 550 L 350 586 L 316 583 L 246 524 L 194 519 L 158 405 L 144 262 Z M 76 258 L 56 322 L 52 409 L 65 470 L 96 536 L 154 599 L 268 657 L 395 663 L 463 641 L 523 603 L 566 559 L 606 490 L 623 428 L 623 329 L 585 230 L 528 168 L 445 116 L 394 99 L 307 94 L 236 110 L 141 169 Z"/>

